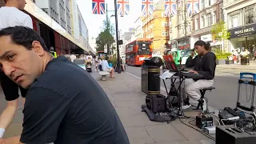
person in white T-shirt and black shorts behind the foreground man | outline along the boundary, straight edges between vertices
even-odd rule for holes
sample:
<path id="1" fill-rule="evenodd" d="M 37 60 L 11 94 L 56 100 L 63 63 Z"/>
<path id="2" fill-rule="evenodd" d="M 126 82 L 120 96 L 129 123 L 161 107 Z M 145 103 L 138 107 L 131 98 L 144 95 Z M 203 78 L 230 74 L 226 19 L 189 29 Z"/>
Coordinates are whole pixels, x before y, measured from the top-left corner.
<path id="1" fill-rule="evenodd" d="M 30 16 L 21 11 L 26 4 L 25 0 L 7 0 L 5 2 L 6 6 L 0 8 L 0 30 L 9 26 L 28 26 L 33 28 Z M 25 102 L 27 90 L 6 77 L 2 71 L 0 73 L 2 90 L 7 101 L 6 109 L 2 111 L 0 116 L 0 138 L 2 138 L 18 108 L 18 88 L 21 91 L 23 102 Z"/>

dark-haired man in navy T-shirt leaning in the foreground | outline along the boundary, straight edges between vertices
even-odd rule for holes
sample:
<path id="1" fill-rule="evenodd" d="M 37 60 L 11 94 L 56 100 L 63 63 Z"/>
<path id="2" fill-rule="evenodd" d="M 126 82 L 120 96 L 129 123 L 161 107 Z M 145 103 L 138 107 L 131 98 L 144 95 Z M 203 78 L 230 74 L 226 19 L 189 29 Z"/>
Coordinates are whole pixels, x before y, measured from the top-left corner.
<path id="1" fill-rule="evenodd" d="M 63 56 L 53 58 L 34 30 L 0 30 L 0 66 L 19 86 L 29 88 L 22 135 L 2 142 L 129 144 L 118 114 L 94 78 Z"/>

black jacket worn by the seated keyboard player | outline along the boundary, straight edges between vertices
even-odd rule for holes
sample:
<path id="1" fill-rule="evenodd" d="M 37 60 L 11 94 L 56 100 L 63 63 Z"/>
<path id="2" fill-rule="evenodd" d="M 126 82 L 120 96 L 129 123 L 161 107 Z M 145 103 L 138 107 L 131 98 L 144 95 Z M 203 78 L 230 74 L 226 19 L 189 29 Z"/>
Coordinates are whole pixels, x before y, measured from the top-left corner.
<path id="1" fill-rule="evenodd" d="M 212 52 L 206 53 L 204 56 L 197 55 L 195 58 L 187 58 L 186 67 L 193 67 L 198 74 L 203 75 L 203 79 L 214 79 L 216 68 L 216 56 Z"/>

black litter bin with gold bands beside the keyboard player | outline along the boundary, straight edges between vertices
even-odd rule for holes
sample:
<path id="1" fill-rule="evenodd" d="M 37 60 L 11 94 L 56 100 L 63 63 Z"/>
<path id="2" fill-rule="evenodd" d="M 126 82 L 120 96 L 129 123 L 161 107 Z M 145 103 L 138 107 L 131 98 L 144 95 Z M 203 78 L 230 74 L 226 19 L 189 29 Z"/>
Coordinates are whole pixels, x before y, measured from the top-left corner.
<path id="1" fill-rule="evenodd" d="M 142 64 L 142 92 L 160 94 L 160 66 L 162 58 L 145 58 Z"/>

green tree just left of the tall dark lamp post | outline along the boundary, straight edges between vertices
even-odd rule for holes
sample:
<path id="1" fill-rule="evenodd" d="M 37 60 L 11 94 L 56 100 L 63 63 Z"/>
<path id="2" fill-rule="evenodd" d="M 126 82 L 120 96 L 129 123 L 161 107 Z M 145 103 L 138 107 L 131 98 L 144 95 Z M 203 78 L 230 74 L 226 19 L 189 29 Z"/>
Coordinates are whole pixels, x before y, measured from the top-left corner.
<path id="1" fill-rule="evenodd" d="M 106 20 L 103 21 L 102 32 L 98 34 L 96 38 L 96 50 L 103 51 L 104 46 L 108 46 L 108 50 L 110 50 L 110 46 L 114 43 L 114 27 L 111 25 L 109 18 L 106 17 Z M 111 50 L 110 50 L 111 52 Z"/>

